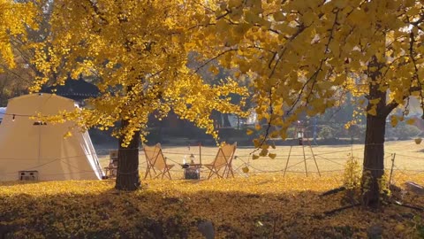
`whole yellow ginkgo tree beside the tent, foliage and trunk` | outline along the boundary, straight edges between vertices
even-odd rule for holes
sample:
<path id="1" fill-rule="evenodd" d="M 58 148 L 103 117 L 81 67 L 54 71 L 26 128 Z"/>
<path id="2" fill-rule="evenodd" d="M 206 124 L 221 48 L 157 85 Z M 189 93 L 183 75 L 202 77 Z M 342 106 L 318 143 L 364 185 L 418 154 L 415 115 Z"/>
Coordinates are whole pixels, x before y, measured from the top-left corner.
<path id="1" fill-rule="evenodd" d="M 189 69 L 192 16 L 201 14 L 192 1 L 55 0 L 50 35 L 33 44 L 34 64 L 42 73 L 36 91 L 48 81 L 64 83 L 71 74 L 95 75 L 101 96 L 90 109 L 63 112 L 50 120 L 77 120 L 79 127 L 115 127 L 120 121 L 117 189 L 140 187 L 139 144 L 149 116 L 171 110 L 217 138 L 211 112 L 242 114 L 231 94 L 246 89 L 226 79 L 209 85 Z M 52 77 L 52 75 L 54 77 Z"/>

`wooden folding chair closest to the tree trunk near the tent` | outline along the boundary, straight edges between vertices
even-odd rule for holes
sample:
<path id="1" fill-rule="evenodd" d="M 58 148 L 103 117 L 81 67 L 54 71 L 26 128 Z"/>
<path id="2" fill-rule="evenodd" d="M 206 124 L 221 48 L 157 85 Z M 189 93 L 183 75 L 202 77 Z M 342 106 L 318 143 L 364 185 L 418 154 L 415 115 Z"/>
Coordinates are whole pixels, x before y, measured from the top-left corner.
<path id="1" fill-rule="evenodd" d="M 152 178 L 152 173 L 154 173 L 153 178 L 158 178 L 162 176 L 170 178 L 170 169 L 174 165 L 167 165 L 166 164 L 166 158 L 163 157 L 161 144 L 156 143 L 155 146 L 148 146 L 143 145 L 144 154 L 146 156 L 146 162 L 148 164 L 148 167 L 146 168 L 146 175 L 144 176 L 144 179 L 150 175 L 150 178 Z"/>

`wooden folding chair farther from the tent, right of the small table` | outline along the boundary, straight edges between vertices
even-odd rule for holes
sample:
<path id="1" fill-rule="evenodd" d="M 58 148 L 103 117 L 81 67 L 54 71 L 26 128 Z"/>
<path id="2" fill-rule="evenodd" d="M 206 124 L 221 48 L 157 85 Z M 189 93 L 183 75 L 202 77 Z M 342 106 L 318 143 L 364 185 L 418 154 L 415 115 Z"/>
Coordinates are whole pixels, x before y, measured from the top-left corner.
<path id="1" fill-rule="evenodd" d="M 204 165 L 210 170 L 208 179 L 210 179 L 214 174 L 216 174 L 218 178 L 228 178 L 230 174 L 234 177 L 231 162 L 236 148 L 237 142 L 233 144 L 224 144 L 218 149 L 218 153 L 216 154 L 216 158 L 212 164 Z"/>

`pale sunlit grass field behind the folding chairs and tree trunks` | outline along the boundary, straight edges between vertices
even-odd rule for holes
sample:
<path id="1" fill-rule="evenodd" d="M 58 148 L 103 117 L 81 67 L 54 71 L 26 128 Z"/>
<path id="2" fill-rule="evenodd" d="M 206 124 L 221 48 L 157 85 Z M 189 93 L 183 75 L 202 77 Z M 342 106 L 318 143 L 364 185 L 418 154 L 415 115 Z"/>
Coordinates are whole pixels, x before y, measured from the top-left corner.
<path id="1" fill-rule="evenodd" d="M 360 163 L 363 160 L 363 144 L 353 145 L 313 145 L 309 146 L 276 146 L 275 150 L 270 150 L 276 153 L 276 158 L 259 158 L 252 159 L 251 153 L 254 148 L 239 147 L 236 150 L 236 158 L 232 161 L 232 165 L 236 174 L 245 176 L 241 168 L 247 166 L 249 173 L 284 173 L 299 174 L 299 175 L 314 175 L 318 174 L 318 170 L 323 175 L 328 173 L 343 173 L 345 161 L 352 155 L 359 158 Z M 103 153 L 107 150 L 103 150 Z M 201 162 L 203 164 L 210 163 L 216 157 L 216 147 L 201 147 Z M 174 179 L 183 177 L 183 170 L 178 164 L 181 164 L 183 158 L 190 154 L 195 156 L 195 161 L 200 160 L 200 149 L 198 146 L 188 147 L 172 147 L 163 146 L 163 155 L 168 158 L 169 164 L 175 164 L 171 170 Z M 289 157 L 290 153 L 290 157 Z M 396 154 L 396 155 L 394 155 Z M 404 174 L 424 173 L 424 143 L 416 144 L 413 140 L 398 141 L 385 143 L 385 167 L 391 168 L 392 158 L 394 157 L 394 172 Z M 109 164 L 109 156 L 102 155 L 99 157 L 102 166 Z M 287 162 L 288 161 L 288 162 Z M 306 164 L 305 164 L 306 162 Z M 316 162 L 316 165 L 315 165 Z M 318 166 L 318 169 L 317 169 Z M 146 170 L 146 159 L 144 152 L 140 151 L 140 173 L 143 174 Z M 206 170 L 203 168 L 202 176 L 206 175 Z M 307 171 L 307 173 L 306 173 Z"/>

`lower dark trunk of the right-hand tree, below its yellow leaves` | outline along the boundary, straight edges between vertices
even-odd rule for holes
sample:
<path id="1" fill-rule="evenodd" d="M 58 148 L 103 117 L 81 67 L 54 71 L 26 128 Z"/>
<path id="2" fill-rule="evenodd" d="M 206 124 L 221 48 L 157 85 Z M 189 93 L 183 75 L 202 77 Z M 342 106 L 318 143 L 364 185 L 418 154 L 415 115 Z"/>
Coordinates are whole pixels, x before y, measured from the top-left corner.
<path id="1" fill-rule="evenodd" d="M 386 117 L 367 115 L 364 170 L 362 175 L 362 202 L 365 206 L 380 206 L 381 184 L 384 173 L 384 134 Z"/>

